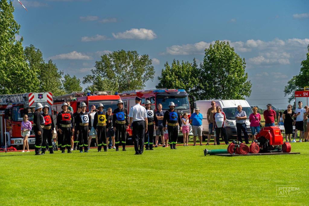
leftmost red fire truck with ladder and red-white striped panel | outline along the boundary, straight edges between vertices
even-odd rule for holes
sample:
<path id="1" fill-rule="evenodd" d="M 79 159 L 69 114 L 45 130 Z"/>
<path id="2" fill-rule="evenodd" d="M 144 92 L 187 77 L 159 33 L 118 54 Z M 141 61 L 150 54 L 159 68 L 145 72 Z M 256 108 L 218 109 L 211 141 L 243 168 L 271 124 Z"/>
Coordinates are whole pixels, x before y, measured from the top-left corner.
<path id="1" fill-rule="evenodd" d="M 21 135 L 21 122 L 23 115 L 28 114 L 29 121 L 32 123 L 32 117 L 36 103 L 53 106 L 53 94 L 51 92 L 23 93 L 0 95 L 0 132 L 1 145 L 21 147 L 23 137 Z M 34 145 L 34 131 L 30 132 L 28 138 L 29 146 Z"/>

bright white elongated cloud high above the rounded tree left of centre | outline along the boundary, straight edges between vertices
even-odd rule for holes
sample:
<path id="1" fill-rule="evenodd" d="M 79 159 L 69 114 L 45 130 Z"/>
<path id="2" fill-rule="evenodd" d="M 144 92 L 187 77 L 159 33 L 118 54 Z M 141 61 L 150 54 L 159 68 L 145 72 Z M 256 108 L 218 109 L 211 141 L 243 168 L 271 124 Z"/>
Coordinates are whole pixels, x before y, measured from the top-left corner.
<path id="1" fill-rule="evenodd" d="M 157 38 L 155 32 L 151 29 L 145 28 L 132 28 L 125 32 L 118 32 L 117 34 L 112 33 L 115 39 L 142 39 L 142 40 L 153 40 Z"/>

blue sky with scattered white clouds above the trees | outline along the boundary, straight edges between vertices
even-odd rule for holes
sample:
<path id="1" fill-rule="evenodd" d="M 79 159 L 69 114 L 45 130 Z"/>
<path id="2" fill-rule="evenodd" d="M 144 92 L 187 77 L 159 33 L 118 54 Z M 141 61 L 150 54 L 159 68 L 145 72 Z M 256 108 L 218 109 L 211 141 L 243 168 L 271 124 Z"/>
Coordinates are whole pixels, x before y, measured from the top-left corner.
<path id="1" fill-rule="evenodd" d="M 33 44 L 65 74 L 82 79 L 115 50 L 148 54 L 155 88 L 165 62 L 201 62 L 204 49 L 228 40 L 246 59 L 250 105 L 286 108 L 283 89 L 309 44 L 309 1 L 13 1 L 23 46 Z M 308 84 L 309 85 L 309 84 Z M 83 85 L 84 86 L 84 85 Z"/>

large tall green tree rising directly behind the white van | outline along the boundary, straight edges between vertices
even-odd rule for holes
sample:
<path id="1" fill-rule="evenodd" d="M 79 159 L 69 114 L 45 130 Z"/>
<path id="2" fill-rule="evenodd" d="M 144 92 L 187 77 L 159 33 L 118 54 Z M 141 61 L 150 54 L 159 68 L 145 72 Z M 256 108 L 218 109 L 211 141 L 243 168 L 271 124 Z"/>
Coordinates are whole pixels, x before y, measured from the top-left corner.
<path id="1" fill-rule="evenodd" d="M 252 84 L 245 72 L 245 59 L 235 53 L 229 42 L 216 41 L 205 49 L 201 64 L 203 90 L 199 99 L 244 99 Z"/>

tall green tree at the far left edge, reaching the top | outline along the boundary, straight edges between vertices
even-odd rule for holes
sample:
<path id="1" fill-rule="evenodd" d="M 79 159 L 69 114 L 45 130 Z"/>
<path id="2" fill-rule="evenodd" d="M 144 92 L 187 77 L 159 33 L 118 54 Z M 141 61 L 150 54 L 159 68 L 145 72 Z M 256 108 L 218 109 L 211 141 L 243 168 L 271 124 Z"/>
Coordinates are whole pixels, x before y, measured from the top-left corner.
<path id="1" fill-rule="evenodd" d="M 39 80 L 23 58 L 23 37 L 17 41 L 20 25 L 14 20 L 12 1 L 0 1 L 0 94 L 36 91 Z"/>

